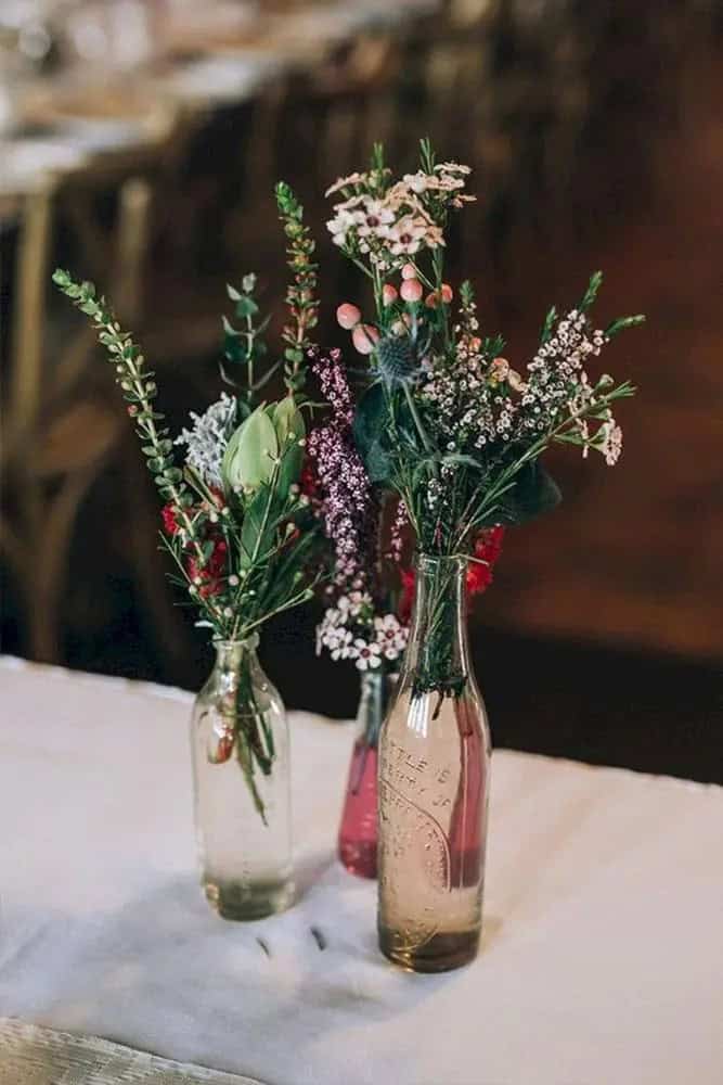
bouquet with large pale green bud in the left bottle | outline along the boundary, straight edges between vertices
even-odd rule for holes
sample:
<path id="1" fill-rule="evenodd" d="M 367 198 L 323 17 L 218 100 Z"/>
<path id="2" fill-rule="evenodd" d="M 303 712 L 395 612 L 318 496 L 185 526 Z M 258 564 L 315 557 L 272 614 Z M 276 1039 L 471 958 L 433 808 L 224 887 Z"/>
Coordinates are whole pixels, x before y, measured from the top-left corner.
<path id="1" fill-rule="evenodd" d="M 273 615 L 310 599 L 315 583 L 308 569 L 319 526 L 299 485 L 308 405 L 305 363 L 318 309 L 314 245 L 287 186 L 277 186 L 276 199 L 293 273 L 283 357 L 264 365 L 268 319 L 258 320 L 256 277 L 248 275 L 240 290 L 228 288 L 238 327 L 223 320 L 221 373 L 233 391 L 203 414 L 192 413 L 190 427 L 176 439 L 155 405 L 154 373 L 105 299 L 92 283 L 77 283 L 60 269 L 53 276 L 90 318 L 107 350 L 164 501 L 160 538 L 175 564 L 171 579 L 197 609 L 196 624 L 210 629 L 215 640 L 254 636 Z M 263 400 L 264 385 L 282 368 L 286 395 Z M 179 446 L 184 450 L 180 464 L 175 456 Z M 214 758 L 228 761 L 235 751 L 263 814 L 255 777 L 271 773 L 274 749 L 253 700 L 250 678 L 242 675 Z"/>

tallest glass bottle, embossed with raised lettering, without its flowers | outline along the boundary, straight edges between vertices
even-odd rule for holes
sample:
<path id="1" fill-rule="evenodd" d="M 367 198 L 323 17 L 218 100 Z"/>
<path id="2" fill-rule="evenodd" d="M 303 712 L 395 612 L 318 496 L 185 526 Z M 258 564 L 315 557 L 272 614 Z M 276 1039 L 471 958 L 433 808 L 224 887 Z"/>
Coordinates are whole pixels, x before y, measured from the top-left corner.
<path id="1" fill-rule="evenodd" d="M 410 642 L 379 738 L 382 952 L 416 972 L 477 954 L 490 780 L 463 558 L 421 556 Z"/>

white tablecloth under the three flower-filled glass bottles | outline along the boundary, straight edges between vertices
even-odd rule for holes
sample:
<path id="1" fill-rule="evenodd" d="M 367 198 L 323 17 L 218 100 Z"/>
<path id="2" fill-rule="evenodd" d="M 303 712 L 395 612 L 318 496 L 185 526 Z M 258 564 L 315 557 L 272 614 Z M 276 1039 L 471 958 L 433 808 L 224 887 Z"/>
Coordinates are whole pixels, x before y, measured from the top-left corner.
<path id="1" fill-rule="evenodd" d="M 188 694 L 0 688 L 0 1016 L 270 1085 L 723 1081 L 720 788 L 498 751 L 483 952 L 417 976 L 334 861 L 348 726 L 294 715 L 304 896 L 237 924 L 196 883 Z"/>

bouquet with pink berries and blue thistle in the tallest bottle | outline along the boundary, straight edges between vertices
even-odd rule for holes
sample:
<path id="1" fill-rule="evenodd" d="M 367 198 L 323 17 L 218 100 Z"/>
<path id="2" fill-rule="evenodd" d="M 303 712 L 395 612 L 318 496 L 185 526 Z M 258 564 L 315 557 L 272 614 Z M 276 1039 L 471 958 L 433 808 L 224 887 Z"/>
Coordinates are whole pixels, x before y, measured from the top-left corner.
<path id="1" fill-rule="evenodd" d="M 353 420 L 360 460 L 373 483 L 398 495 L 422 553 L 464 557 L 474 566 L 489 564 L 476 551 L 490 528 L 522 523 L 559 500 L 540 462 L 551 445 L 618 460 L 622 434 L 612 406 L 634 388 L 593 378 L 588 367 L 643 317 L 595 328 L 597 272 L 577 306 L 561 317 L 548 311 L 534 357 L 513 368 L 503 339 L 480 329 L 472 284 L 462 283 L 455 299 L 444 278 L 450 216 L 474 199 L 465 192 L 468 174 L 437 163 L 422 141 L 419 168 L 395 179 L 377 146 L 367 171 L 328 190 L 338 202 L 327 225 L 373 302 L 367 317 L 351 303 L 337 309 L 369 360 Z M 446 590 L 440 584 L 440 608 Z M 446 647 L 431 636 L 418 689 L 441 688 L 444 671 Z"/>

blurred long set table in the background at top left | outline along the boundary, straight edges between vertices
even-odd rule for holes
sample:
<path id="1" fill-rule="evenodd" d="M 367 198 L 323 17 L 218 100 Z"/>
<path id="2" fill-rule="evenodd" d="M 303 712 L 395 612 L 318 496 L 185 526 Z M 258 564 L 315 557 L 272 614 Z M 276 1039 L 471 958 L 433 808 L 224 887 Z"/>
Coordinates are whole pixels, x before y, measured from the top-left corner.
<path id="1" fill-rule="evenodd" d="M 438 3 L 346 0 L 267 10 L 253 2 L 165 7 L 116 0 L 67 11 L 60 2 L 36 7 L 33 20 L 31 4 L 15 5 L 15 27 L 9 25 L 12 4 L 0 13 L 7 39 L 0 84 L 5 217 L 18 207 L 9 197 L 35 190 L 49 175 L 91 168 L 95 157 L 119 150 L 144 149 L 182 110 L 238 104 L 280 72 L 313 69 L 354 37 L 398 27 Z M 15 52 L 25 49 L 26 67 L 38 49 L 50 52 L 57 44 L 61 58 L 52 74 L 34 76 L 22 58 L 13 71 L 11 30 Z"/>

